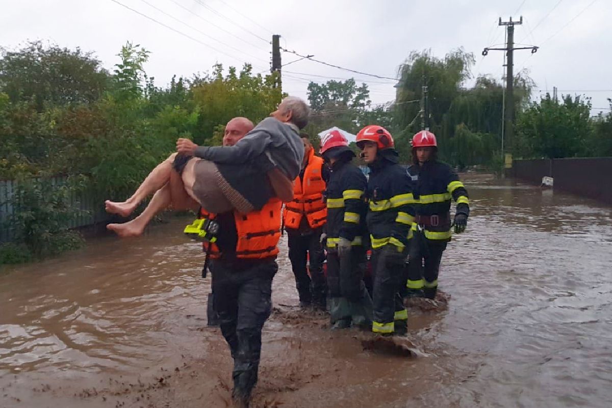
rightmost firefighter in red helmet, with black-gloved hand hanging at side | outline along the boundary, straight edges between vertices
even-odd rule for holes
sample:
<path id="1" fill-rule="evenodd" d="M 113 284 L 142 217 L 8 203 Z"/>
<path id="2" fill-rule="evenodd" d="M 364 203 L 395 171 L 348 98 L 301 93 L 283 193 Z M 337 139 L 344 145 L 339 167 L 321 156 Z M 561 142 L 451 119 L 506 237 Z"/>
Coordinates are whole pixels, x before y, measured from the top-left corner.
<path id="1" fill-rule="evenodd" d="M 457 173 L 438 161 L 437 153 L 435 134 L 423 130 L 412 137 L 412 165 L 406 171 L 411 179 L 416 219 L 406 282 L 408 297 L 435 298 L 442 252 L 450 241 L 451 227 L 454 225 L 455 233 L 461 233 L 468 223 L 468 192 Z M 451 199 L 457 203 L 453 221 Z"/>

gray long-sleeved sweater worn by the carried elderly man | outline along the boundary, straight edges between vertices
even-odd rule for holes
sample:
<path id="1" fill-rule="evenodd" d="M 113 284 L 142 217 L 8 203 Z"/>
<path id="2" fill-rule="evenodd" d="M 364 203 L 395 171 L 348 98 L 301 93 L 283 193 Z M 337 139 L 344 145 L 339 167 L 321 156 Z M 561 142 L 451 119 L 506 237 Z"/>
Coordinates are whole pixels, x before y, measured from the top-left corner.
<path id="1" fill-rule="evenodd" d="M 268 117 L 233 146 L 200 146 L 195 156 L 217 164 L 251 164 L 262 172 L 275 167 L 293 181 L 300 173 L 304 143 L 293 123 Z"/>

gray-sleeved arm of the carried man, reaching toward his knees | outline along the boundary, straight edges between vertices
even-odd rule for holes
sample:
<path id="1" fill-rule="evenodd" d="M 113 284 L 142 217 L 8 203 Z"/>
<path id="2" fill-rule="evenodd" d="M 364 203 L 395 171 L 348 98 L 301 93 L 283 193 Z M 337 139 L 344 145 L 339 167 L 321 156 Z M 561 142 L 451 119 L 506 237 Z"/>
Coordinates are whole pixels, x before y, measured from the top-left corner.
<path id="1" fill-rule="evenodd" d="M 271 142 L 269 133 L 253 129 L 233 146 L 198 146 L 193 155 L 217 163 L 241 164 L 261 155 Z"/>

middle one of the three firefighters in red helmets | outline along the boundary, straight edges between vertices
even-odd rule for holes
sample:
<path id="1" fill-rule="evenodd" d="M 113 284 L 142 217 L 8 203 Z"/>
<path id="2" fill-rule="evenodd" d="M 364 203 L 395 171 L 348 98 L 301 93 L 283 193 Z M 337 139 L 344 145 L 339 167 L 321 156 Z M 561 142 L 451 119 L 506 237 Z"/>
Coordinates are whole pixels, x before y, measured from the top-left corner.
<path id="1" fill-rule="evenodd" d="M 400 293 L 414 221 L 410 180 L 398 164 L 394 140 L 387 129 L 365 126 L 357 134 L 357 146 L 370 167 L 366 196 L 374 276 L 371 330 L 383 335 L 403 334 L 408 314 Z"/>

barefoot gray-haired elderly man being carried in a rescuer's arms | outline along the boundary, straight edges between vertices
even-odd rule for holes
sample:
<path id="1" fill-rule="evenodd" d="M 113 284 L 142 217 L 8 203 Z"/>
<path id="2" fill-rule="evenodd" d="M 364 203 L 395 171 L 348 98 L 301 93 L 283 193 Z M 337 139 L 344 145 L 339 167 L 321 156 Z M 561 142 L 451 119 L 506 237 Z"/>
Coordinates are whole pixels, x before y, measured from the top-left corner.
<path id="1" fill-rule="evenodd" d="M 156 192 L 150 214 L 169 206 L 176 210 L 202 206 L 211 213 L 233 209 L 250 213 L 261 209 L 271 197 L 290 201 L 304 155 L 299 129 L 307 125 L 309 112 L 304 101 L 287 97 L 271 117 L 259 122 L 234 146 L 200 147 L 191 140 L 179 139 L 177 153 L 155 167 L 125 202 L 107 200 L 106 211 L 127 217 Z M 137 236 L 150 219 L 109 224 L 107 228 L 122 237 Z"/>

